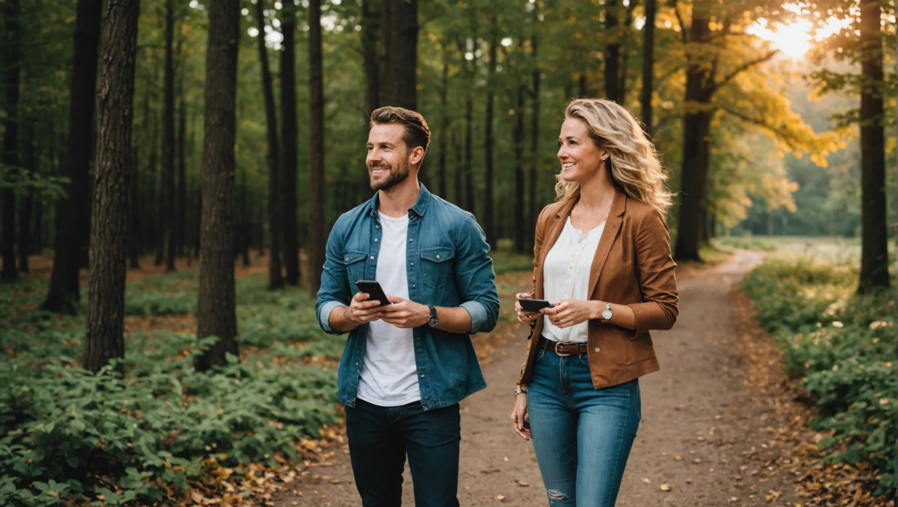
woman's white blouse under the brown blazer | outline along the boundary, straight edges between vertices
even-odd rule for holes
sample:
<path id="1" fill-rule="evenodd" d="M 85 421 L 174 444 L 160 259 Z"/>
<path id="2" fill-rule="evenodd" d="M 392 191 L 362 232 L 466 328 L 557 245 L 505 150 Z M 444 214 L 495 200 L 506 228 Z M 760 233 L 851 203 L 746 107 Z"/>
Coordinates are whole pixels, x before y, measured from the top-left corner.
<path id="1" fill-rule="evenodd" d="M 542 265 L 542 293 L 550 301 L 589 299 L 589 270 L 593 266 L 595 249 L 599 246 L 605 223 L 592 231 L 580 233 L 570 223 L 570 217 L 561 230 L 559 239 L 552 245 Z M 558 328 L 549 316 L 543 319 L 543 336 L 556 342 L 586 343 L 589 321 L 569 328 Z"/>

